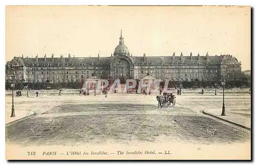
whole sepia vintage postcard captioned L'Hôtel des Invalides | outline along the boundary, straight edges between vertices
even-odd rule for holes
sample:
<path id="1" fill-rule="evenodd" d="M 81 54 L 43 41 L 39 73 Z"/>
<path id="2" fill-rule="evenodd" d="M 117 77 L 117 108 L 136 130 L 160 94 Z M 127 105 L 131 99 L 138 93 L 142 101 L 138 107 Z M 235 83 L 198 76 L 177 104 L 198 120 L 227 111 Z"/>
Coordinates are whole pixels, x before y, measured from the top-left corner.
<path id="1" fill-rule="evenodd" d="M 6 159 L 251 159 L 250 6 L 6 6 Z"/>

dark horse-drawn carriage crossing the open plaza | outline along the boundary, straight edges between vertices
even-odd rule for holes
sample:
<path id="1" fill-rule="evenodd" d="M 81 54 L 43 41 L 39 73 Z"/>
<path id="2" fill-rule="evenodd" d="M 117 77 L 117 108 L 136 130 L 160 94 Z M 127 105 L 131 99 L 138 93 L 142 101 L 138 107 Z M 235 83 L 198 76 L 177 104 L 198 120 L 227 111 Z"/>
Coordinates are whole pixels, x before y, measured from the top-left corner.
<path id="1" fill-rule="evenodd" d="M 157 108 L 162 108 L 162 107 L 168 107 L 170 103 L 173 104 L 173 106 L 176 104 L 176 99 L 175 95 L 172 93 L 163 93 L 163 96 L 157 96 Z"/>

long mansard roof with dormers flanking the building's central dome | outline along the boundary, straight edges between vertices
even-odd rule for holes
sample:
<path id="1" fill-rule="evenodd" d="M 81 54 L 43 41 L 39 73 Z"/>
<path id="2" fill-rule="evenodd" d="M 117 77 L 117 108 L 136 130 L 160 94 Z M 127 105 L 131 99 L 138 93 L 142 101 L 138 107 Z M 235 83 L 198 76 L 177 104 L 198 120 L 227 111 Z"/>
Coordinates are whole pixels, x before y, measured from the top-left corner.
<path id="1" fill-rule="evenodd" d="M 91 65 L 110 65 L 112 59 L 115 57 L 62 57 L 62 58 L 37 58 L 38 66 L 46 66 L 47 64 L 51 66 L 91 66 Z M 175 65 L 175 64 L 201 64 L 204 65 L 206 62 L 208 64 L 217 65 L 225 61 L 237 61 L 236 58 L 230 55 L 221 55 L 221 56 L 208 56 L 208 61 L 206 61 L 206 56 L 157 56 L 157 57 L 148 57 L 148 56 L 129 56 L 132 62 L 135 65 Z M 144 60 L 145 59 L 145 60 Z M 20 58 L 14 57 L 10 62 L 7 62 L 6 66 L 13 64 L 18 64 L 19 66 L 31 66 L 32 64 L 36 65 L 36 58 Z M 73 64 L 73 65 L 72 65 Z"/>

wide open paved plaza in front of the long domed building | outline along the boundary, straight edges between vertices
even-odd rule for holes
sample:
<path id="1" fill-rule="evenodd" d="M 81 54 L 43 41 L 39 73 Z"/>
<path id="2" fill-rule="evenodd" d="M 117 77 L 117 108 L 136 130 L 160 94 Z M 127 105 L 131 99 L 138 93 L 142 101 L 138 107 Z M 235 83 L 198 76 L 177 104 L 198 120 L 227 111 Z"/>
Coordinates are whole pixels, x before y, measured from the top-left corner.
<path id="1" fill-rule="evenodd" d="M 16 116 L 23 111 L 35 115 L 12 123 L 7 116 L 6 141 L 24 146 L 250 141 L 248 129 L 202 113 L 205 109 L 220 109 L 221 114 L 221 95 L 176 97 L 174 107 L 163 108 L 157 108 L 154 95 L 17 97 Z M 7 111 L 11 111 L 11 97 L 6 96 L 6 102 Z M 250 95 L 226 96 L 225 105 L 228 115 L 239 115 L 250 122 Z"/>

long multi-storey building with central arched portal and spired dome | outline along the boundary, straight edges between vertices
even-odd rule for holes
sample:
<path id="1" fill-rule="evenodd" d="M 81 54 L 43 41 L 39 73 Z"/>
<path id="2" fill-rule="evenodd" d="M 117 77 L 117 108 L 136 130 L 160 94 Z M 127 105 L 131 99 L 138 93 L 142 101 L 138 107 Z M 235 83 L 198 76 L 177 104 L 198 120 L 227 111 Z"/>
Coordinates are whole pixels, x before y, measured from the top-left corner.
<path id="1" fill-rule="evenodd" d="M 101 79 L 142 79 L 147 74 L 156 79 L 172 81 L 219 81 L 220 78 L 230 76 L 234 70 L 241 72 L 241 62 L 228 55 L 203 56 L 193 53 L 177 56 L 147 57 L 133 56 L 121 36 L 119 44 L 110 57 L 47 57 L 35 58 L 14 57 L 6 63 L 6 81 L 23 82 L 70 82 L 84 81 L 95 75 Z"/>

